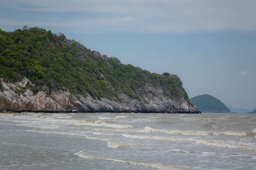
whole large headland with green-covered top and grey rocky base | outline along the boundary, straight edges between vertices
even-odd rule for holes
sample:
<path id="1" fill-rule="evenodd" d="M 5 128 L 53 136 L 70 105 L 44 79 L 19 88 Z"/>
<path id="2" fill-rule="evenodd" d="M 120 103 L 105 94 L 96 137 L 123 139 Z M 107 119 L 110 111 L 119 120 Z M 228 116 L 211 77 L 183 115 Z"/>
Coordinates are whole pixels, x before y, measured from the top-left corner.
<path id="1" fill-rule="evenodd" d="M 35 100 L 40 96 L 57 102 L 51 107 L 45 105 L 45 110 L 62 107 L 61 110 L 76 108 L 84 112 L 198 111 L 177 75 L 159 75 L 121 64 L 115 57 L 67 40 L 62 33 L 53 34 L 37 27 L 0 30 L 0 77 L 0 108 L 38 109 Z M 66 102 L 56 99 L 57 94 L 67 97 Z"/>

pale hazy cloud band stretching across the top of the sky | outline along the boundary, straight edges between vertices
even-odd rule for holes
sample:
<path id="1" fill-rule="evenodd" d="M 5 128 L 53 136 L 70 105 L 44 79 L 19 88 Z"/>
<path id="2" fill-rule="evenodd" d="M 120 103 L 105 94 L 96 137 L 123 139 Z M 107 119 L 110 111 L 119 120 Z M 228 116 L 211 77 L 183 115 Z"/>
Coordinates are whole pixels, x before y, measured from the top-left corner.
<path id="1" fill-rule="evenodd" d="M 95 30 L 93 26 L 107 32 L 256 31 L 255 0 L 2 0 L 1 7 L 52 15 L 77 13 L 58 23 L 70 22 L 85 31 Z M 56 21 L 49 17 L 48 22 Z"/>

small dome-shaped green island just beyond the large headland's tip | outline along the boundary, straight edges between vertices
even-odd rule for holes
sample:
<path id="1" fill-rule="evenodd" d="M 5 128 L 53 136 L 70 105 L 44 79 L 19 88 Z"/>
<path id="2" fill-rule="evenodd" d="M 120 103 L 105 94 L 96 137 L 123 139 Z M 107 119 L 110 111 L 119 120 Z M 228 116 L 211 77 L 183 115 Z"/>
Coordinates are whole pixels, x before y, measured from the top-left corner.
<path id="1" fill-rule="evenodd" d="M 229 113 L 230 110 L 224 103 L 211 95 L 199 95 L 190 99 L 201 112 L 207 113 Z"/>

